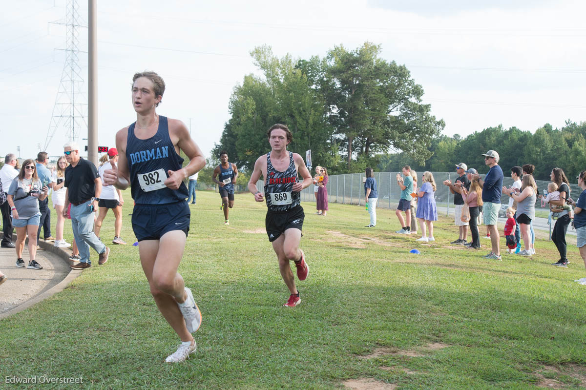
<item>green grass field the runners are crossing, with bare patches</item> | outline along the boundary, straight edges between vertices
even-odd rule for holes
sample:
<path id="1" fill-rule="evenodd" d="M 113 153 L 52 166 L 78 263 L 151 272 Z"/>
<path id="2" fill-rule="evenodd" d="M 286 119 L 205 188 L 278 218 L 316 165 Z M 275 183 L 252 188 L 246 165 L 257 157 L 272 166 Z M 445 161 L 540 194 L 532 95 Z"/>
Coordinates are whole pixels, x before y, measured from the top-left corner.
<path id="1" fill-rule="evenodd" d="M 543 240 L 533 258 L 488 261 L 488 249 L 447 244 L 457 237 L 447 218 L 433 245 L 420 244 L 393 232 L 394 211 L 379 210 L 369 229 L 363 206 L 330 204 L 321 217 L 304 203 L 311 273 L 297 283 L 301 305 L 285 308 L 264 204 L 237 195 L 227 227 L 207 191 L 190 206 L 179 267 L 203 313 L 197 353 L 165 364 L 179 339 L 149 293 L 131 245 L 130 191 L 125 199 L 128 245 L 111 245 L 104 266 L 92 252 L 93 266 L 63 292 L 0 321 L 0 389 L 340 389 L 360 378 L 389 389 L 586 386 L 586 286 L 573 281 L 586 273 L 575 246 L 567 269 L 550 265 L 557 252 Z M 113 236 L 110 213 L 101 237 Z M 35 375 L 83 384 L 5 384 Z"/>

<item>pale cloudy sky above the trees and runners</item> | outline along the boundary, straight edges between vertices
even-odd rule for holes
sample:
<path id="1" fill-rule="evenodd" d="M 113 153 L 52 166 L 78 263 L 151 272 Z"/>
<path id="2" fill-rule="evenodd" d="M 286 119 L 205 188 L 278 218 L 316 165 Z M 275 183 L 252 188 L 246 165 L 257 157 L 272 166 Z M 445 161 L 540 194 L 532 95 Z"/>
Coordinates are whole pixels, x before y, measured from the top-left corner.
<path id="1" fill-rule="evenodd" d="M 87 1 L 80 0 L 82 23 Z M 0 155 L 45 145 L 62 77 L 66 0 L 5 2 L 0 15 Z M 448 5 L 447 5 L 448 4 Z M 502 124 L 535 131 L 586 119 L 586 2 L 539 0 L 298 0 L 98 2 L 100 145 L 135 120 L 130 83 L 155 70 L 167 89 L 158 112 L 191 124 L 209 155 L 229 119 L 234 85 L 258 73 L 250 55 L 325 56 L 366 40 L 405 64 L 424 101 L 462 136 Z M 87 50 L 81 29 L 80 49 Z M 87 60 L 81 54 L 82 72 Z M 47 148 L 60 155 L 59 129 Z M 80 141 L 85 143 L 85 141 Z"/>

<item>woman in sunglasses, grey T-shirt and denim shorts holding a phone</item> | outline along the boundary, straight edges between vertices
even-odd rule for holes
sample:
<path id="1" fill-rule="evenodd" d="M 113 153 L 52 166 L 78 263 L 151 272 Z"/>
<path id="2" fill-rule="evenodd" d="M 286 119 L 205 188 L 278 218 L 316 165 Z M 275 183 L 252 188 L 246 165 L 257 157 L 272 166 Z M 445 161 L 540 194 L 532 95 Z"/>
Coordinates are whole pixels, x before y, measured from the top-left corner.
<path id="1" fill-rule="evenodd" d="M 39 200 L 45 200 L 49 187 L 41 183 L 36 172 L 35 161 L 25 160 L 21 172 L 10 185 L 8 204 L 11 208 L 12 224 L 16 228 L 16 266 L 24 268 L 22 251 L 26 234 L 29 235 L 29 265 L 26 268 L 43 269 L 36 262 L 37 232 L 40 224 Z"/>

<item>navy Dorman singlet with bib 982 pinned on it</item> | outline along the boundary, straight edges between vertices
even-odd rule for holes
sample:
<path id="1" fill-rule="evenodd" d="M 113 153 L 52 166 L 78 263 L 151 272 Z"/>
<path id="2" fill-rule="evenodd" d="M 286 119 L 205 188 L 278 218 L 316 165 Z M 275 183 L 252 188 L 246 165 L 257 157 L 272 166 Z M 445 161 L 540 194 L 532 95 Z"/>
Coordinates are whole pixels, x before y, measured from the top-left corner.
<path id="1" fill-rule="evenodd" d="M 184 201 L 188 197 L 185 183 L 178 190 L 163 185 L 168 170 L 179 170 L 183 159 L 175 152 L 169 136 L 166 117 L 159 115 L 156 134 L 148 139 L 134 135 L 136 122 L 128 126 L 126 158 L 130 168 L 131 194 L 136 204 L 166 204 Z"/>

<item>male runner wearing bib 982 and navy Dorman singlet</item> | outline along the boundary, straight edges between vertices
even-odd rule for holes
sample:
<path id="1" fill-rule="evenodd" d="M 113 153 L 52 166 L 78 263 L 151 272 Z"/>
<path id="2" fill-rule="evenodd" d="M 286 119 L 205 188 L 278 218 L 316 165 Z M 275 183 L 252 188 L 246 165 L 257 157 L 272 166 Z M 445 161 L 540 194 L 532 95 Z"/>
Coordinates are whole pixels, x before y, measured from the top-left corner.
<path id="1" fill-rule="evenodd" d="M 132 83 L 137 121 L 117 132 L 118 168 L 104 172 L 104 184 L 121 190 L 131 186 L 132 229 L 142 269 L 159 311 L 182 341 L 165 361 L 180 362 L 195 353 L 192 333 L 202 323 L 192 292 L 177 272 L 190 217 L 183 179 L 206 162 L 183 122 L 156 114 L 165 91 L 163 79 L 145 71 L 135 74 Z M 185 167 L 179 149 L 189 158 Z"/>

